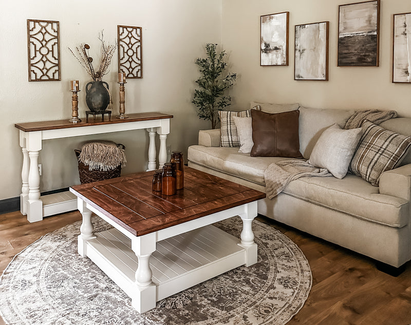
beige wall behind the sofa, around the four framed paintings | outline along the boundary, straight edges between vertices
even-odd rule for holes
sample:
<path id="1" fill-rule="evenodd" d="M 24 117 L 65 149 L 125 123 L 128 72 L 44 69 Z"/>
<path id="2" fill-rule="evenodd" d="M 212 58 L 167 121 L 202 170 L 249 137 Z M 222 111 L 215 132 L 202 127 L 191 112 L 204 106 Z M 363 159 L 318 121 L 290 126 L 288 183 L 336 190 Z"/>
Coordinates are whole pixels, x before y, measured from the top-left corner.
<path id="1" fill-rule="evenodd" d="M 380 66 L 337 67 L 338 6 L 344 0 L 223 0 L 222 44 L 238 72 L 230 94 L 237 107 L 250 101 L 313 108 L 395 109 L 411 116 L 411 85 L 391 83 L 393 14 L 411 12 L 404 0 L 381 1 Z M 289 66 L 260 67 L 260 15 L 290 12 Z M 329 81 L 294 81 L 294 25 L 330 22 Z"/>

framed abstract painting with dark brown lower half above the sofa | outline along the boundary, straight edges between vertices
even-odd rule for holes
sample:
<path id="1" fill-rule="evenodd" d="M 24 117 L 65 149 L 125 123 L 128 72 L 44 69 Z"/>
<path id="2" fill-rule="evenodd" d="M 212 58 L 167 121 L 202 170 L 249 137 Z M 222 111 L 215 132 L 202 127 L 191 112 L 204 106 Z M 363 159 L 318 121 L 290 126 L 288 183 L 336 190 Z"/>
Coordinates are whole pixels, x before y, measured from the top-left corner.
<path id="1" fill-rule="evenodd" d="M 339 6 L 338 66 L 379 66 L 380 0 Z"/>

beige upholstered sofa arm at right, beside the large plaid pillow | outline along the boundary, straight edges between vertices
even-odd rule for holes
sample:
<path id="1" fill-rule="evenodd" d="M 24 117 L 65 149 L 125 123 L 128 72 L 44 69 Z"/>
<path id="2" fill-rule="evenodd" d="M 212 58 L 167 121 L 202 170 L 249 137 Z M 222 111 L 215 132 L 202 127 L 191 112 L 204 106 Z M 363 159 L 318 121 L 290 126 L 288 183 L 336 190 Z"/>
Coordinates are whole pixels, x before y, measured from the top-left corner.
<path id="1" fill-rule="evenodd" d="M 380 194 L 411 199 L 411 164 L 384 171 L 380 177 Z"/>

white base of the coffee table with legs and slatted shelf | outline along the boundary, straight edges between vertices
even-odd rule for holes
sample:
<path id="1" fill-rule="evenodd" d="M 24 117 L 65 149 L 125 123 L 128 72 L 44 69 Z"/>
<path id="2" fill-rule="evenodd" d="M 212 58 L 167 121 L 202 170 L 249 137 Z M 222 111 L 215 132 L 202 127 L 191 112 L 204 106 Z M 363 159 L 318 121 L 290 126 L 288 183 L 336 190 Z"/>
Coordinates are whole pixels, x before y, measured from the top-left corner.
<path id="1" fill-rule="evenodd" d="M 78 201 L 83 215 L 78 237 L 79 254 L 88 257 L 144 313 L 156 302 L 240 265 L 257 262 L 251 223 L 257 202 L 227 209 L 143 236 L 133 236 L 95 207 Z M 114 226 L 94 234 L 91 212 Z M 241 239 L 211 225 L 240 216 Z"/>

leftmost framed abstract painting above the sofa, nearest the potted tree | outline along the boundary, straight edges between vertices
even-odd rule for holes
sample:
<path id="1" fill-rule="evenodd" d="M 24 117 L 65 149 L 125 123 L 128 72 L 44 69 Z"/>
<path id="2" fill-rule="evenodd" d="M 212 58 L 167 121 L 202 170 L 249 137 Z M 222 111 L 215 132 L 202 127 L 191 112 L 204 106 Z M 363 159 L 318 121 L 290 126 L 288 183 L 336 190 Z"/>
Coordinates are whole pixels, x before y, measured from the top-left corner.
<path id="1" fill-rule="evenodd" d="M 290 12 L 260 16 L 260 66 L 288 66 Z"/>

